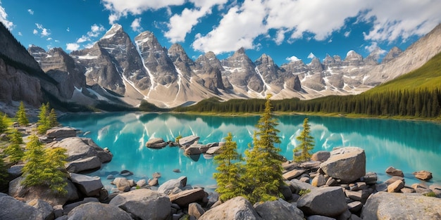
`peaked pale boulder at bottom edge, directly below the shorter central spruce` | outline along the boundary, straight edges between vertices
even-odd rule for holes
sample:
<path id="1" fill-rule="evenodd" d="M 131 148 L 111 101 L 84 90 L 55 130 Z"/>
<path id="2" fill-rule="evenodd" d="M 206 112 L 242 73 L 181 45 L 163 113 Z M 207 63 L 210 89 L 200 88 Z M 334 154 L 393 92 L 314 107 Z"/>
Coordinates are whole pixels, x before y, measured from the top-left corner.
<path id="1" fill-rule="evenodd" d="M 221 205 L 213 207 L 206 211 L 199 220 L 254 220 L 261 219 L 251 203 L 243 197 L 232 198 Z"/>

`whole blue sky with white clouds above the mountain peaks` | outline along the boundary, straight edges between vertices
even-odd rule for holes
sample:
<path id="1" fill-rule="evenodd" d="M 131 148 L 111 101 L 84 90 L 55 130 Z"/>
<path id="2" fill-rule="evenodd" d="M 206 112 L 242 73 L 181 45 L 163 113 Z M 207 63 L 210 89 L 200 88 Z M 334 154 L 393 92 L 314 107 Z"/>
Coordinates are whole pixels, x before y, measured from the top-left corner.
<path id="1" fill-rule="evenodd" d="M 441 22 L 440 9 L 440 0 L 0 0 L 0 21 L 25 47 L 86 48 L 118 23 L 132 41 L 149 30 L 193 59 L 244 47 L 251 60 L 266 53 L 282 65 L 404 50 Z"/>

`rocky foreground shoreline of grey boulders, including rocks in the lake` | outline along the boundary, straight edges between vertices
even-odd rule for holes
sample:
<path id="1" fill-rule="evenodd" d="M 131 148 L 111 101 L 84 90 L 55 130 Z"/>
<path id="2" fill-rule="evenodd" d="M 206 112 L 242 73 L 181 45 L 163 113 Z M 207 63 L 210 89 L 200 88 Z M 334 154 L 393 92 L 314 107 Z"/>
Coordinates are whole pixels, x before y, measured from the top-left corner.
<path id="1" fill-rule="evenodd" d="M 29 132 L 29 129 L 22 129 Z M 0 193 L 0 219 L 440 219 L 441 186 L 415 183 L 406 186 L 394 167 L 385 172 L 390 179 L 378 182 L 366 173 L 366 155 L 361 148 L 319 151 L 312 160 L 283 164 L 283 198 L 251 204 L 242 197 L 221 203 L 217 193 L 187 184 L 187 176 L 159 184 L 153 179 L 134 181 L 130 171 L 109 175 L 116 186 L 109 193 L 97 176 L 79 174 L 99 169 L 113 155 L 90 138 L 77 137 L 71 128 L 56 128 L 40 137 L 46 147 L 66 148 L 69 178 L 67 195 L 48 188 L 20 185 L 23 164 L 8 169 L 8 194 Z M 175 141 L 149 140 L 149 148 L 179 146 L 188 155 L 218 153 L 223 143 L 198 143 L 188 136 Z M 175 172 L 179 172 L 176 170 Z M 430 172 L 414 173 L 428 180 Z M 117 177 L 116 177 L 117 176 Z M 189 176 L 191 178 L 191 176 Z M 425 196 L 426 195 L 426 196 Z"/>

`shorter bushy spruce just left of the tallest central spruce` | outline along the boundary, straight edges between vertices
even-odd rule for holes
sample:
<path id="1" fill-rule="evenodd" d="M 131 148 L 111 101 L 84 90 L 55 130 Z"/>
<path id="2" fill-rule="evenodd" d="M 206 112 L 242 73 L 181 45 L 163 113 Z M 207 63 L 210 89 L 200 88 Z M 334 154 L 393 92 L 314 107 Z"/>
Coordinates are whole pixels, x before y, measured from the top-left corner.
<path id="1" fill-rule="evenodd" d="M 218 164 L 216 170 L 218 173 L 213 174 L 214 179 L 218 183 L 216 192 L 220 194 L 221 201 L 225 202 L 230 198 L 244 195 L 244 184 L 241 176 L 243 174 L 242 155 L 237 153 L 237 144 L 232 141 L 231 133 L 225 137 L 225 145 L 220 149 L 221 153 L 213 158 Z"/>

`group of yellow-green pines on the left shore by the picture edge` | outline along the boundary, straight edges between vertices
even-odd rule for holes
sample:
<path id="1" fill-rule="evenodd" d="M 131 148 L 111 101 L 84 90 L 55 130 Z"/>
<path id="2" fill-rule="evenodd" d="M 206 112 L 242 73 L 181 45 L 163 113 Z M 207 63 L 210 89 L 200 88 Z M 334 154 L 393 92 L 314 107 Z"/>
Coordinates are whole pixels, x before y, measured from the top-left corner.
<path id="1" fill-rule="evenodd" d="M 43 103 L 40 107 L 37 131 L 35 131 L 39 134 L 44 134 L 48 129 L 58 124 L 55 110 L 52 109 L 51 112 L 48 110 L 49 103 Z M 0 133 L 6 132 L 8 137 L 8 143 L 6 143 L 3 153 L 0 155 L 0 185 L 6 184 L 8 179 L 7 166 L 4 160 L 6 158 L 8 165 L 25 163 L 23 167 L 23 186 L 47 186 L 56 193 L 67 193 L 65 189 L 67 186 L 67 172 L 64 167 L 67 160 L 66 149 L 45 148 L 36 134 L 28 137 L 29 142 L 26 143 L 25 149 L 23 149 L 23 136 L 18 129 L 11 126 L 13 120 L 6 117 L 6 115 L 0 117 Z M 15 121 L 20 126 L 29 124 L 23 102 L 20 103 Z"/>

